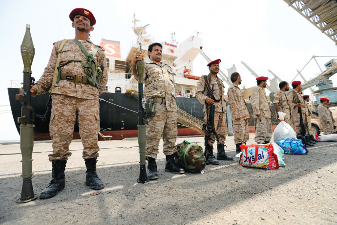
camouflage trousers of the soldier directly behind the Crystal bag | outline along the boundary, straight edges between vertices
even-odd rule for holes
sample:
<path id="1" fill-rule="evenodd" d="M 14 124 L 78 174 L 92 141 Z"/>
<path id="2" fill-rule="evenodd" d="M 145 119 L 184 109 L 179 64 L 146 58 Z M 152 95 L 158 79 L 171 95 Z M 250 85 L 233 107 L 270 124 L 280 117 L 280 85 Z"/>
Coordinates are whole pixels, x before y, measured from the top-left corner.
<path id="1" fill-rule="evenodd" d="M 255 142 L 264 144 L 270 141 L 273 136 L 272 121 L 270 118 L 254 119 L 255 122 Z"/>

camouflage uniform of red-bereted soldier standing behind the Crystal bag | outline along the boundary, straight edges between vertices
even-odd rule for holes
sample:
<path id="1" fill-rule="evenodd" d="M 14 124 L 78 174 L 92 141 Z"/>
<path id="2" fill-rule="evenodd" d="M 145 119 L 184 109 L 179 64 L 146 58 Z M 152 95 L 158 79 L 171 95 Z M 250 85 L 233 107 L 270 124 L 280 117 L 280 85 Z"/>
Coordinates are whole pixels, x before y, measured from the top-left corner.
<path id="1" fill-rule="evenodd" d="M 271 118 L 274 117 L 274 113 L 269 107 L 265 90 L 255 86 L 252 90 L 250 101 L 254 113 L 255 142 L 259 144 L 270 142 L 273 135 Z M 260 119 L 256 114 L 260 115 Z"/>

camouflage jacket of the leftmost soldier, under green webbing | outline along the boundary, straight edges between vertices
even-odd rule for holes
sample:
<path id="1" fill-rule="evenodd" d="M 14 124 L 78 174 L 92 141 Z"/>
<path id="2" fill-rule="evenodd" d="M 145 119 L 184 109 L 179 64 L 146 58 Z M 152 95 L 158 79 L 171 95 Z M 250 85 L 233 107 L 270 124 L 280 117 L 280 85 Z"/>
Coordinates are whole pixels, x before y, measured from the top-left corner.
<path id="1" fill-rule="evenodd" d="M 47 67 L 45 67 L 40 80 L 35 84 L 35 87 L 37 88 L 37 94 L 43 94 L 51 88 L 58 56 L 57 50 L 60 48 L 61 42 L 62 41 L 57 41 L 54 43 L 48 65 Z M 95 48 L 95 45 L 91 42 L 90 39 L 80 42 L 89 53 Z M 81 48 L 73 40 L 68 40 L 62 49 L 61 57 L 59 60 L 60 65 L 73 59 L 85 60 L 86 57 Z M 97 88 L 91 86 L 90 84 L 73 83 L 66 80 L 60 80 L 58 84 L 54 84 L 52 93 L 84 99 L 98 100 L 98 97 L 103 93 L 103 90 L 105 89 L 105 85 L 107 83 L 106 58 L 103 49 L 99 49 L 99 51 L 95 55 L 95 60 L 99 63 L 99 65 L 105 66 L 105 70 L 103 71 L 103 75 L 100 81 L 99 90 L 97 90 Z M 86 76 L 81 62 L 69 63 L 62 67 L 61 72 L 78 76 Z"/>

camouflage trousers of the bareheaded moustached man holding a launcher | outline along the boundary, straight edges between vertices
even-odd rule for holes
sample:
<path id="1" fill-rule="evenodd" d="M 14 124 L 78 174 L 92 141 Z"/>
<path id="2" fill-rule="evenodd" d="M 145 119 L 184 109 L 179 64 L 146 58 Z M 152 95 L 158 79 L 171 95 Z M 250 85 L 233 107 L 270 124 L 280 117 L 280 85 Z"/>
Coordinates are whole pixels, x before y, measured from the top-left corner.
<path id="1" fill-rule="evenodd" d="M 166 156 L 177 152 L 177 111 L 168 111 L 165 104 L 154 103 L 156 115 L 148 118 L 146 126 L 145 156 L 157 158 L 160 137 L 163 135 L 163 152 Z"/>

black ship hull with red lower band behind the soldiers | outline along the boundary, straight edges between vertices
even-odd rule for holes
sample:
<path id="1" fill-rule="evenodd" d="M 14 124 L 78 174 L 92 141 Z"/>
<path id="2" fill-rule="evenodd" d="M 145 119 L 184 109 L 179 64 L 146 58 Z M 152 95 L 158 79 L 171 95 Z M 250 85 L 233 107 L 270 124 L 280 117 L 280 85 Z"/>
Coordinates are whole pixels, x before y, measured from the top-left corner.
<path id="1" fill-rule="evenodd" d="M 20 134 L 19 123 L 17 118 L 21 116 L 21 103 L 15 101 L 15 95 L 19 93 L 19 89 L 8 88 L 9 102 L 12 110 L 13 119 L 16 124 L 18 133 Z M 49 93 L 41 94 L 32 98 L 32 107 L 35 114 L 43 115 L 47 107 L 45 106 L 49 99 Z M 101 100 L 103 99 L 103 100 Z M 181 110 L 188 112 L 192 116 L 204 120 L 204 113 L 200 102 L 196 98 L 176 97 L 176 104 Z M 250 110 L 251 105 L 248 104 Z M 274 107 L 272 107 L 274 111 Z M 128 96 L 125 93 L 104 92 L 100 96 L 100 120 L 101 133 L 103 135 L 111 135 L 114 140 L 121 140 L 127 137 L 137 137 L 137 111 L 138 99 Z M 34 140 L 50 140 L 49 135 L 50 118 L 42 121 L 35 117 L 34 121 Z M 272 119 L 273 129 L 277 125 L 275 117 Z M 249 121 L 250 132 L 254 132 L 254 120 Z M 74 127 L 74 139 L 80 139 L 79 127 L 77 123 Z M 178 125 L 179 136 L 200 135 L 196 129 L 191 129 L 182 125 Z M 99 136 L 101 140 L 103 137 Z"/>

